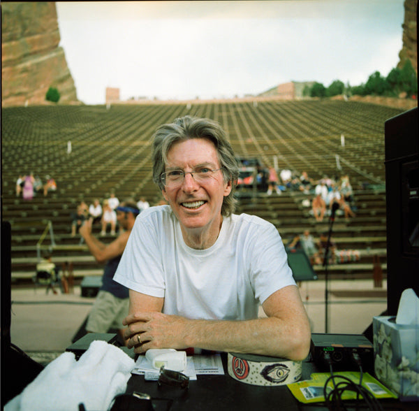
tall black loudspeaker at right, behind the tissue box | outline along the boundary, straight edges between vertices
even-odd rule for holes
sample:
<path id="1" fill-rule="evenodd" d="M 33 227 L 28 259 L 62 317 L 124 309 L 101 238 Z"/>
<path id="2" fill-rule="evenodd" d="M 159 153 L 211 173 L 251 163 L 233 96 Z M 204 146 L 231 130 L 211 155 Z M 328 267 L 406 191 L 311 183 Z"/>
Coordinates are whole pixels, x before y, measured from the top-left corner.
<path id="1" fill-rule="evenodd" d="M 404 289 L 419 296 L 418 108 L 385 122 L 387 308 L 397 315 Z"/>

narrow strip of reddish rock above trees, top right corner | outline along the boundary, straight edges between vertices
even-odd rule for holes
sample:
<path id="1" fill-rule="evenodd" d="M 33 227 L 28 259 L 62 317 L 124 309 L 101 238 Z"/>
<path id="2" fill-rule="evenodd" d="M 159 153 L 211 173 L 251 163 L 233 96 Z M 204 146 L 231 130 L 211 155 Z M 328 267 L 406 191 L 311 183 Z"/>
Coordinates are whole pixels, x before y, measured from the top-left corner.
<path id="1" fill-rule="evenodd" d="M 417 8 L 418 0 L 404 0 L 403 47 L 399 52 L 400 62 L 397 64 L 397 67 L 402 69 L 406 60 L 410 60 L 416 73 L 418 73 Z"/>

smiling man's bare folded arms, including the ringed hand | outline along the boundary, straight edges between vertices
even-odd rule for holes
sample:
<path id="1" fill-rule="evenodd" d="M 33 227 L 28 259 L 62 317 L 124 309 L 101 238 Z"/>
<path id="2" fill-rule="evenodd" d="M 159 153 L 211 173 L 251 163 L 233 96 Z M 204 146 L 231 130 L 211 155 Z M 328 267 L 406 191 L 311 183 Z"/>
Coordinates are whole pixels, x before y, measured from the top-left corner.
<path id="1" fill-rule="evenodd" d="M 243 321 L 186 319 L 163 314 L 164 298 L 130 290 L 130 314 L 124 339 L 138 354 L 150 348 L 197 347 L 304 359 L 310 347 L 310 324 L 294 285 L 274 292 L 263 303 L 267 318 Z"/>

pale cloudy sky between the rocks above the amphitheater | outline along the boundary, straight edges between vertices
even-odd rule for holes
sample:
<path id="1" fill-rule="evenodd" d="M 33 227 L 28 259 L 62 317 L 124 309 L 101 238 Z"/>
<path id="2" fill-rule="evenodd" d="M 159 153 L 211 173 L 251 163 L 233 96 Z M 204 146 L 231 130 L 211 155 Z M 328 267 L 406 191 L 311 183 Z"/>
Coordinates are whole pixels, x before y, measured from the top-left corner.
<path id="1" fill-rule="evenodd" d="M 219 99 L 360 85 L 402 49 L 404 0 L 57 1 L 78 99 Z"/>

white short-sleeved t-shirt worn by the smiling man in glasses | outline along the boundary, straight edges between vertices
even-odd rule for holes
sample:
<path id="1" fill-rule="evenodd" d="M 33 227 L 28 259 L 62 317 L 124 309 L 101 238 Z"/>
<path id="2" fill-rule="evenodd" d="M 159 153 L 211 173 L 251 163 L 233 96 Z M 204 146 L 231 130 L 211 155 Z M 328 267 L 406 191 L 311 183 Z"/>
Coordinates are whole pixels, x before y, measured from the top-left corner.
<path id="1" fill-rule="evenodd" d="M 170 206 L 138 215 L 114 280 L 164 297 L 163 313 L 194 319 L 253 319 L 267 297 L 295 284 L 273 224 L 251 215 L 224 217 L 212 247 L 183 240 Z"/>

